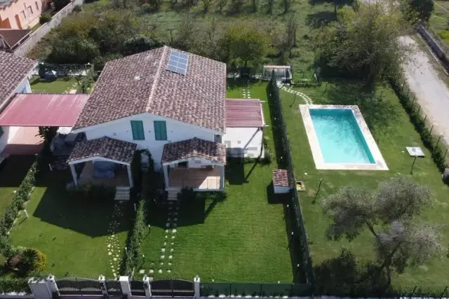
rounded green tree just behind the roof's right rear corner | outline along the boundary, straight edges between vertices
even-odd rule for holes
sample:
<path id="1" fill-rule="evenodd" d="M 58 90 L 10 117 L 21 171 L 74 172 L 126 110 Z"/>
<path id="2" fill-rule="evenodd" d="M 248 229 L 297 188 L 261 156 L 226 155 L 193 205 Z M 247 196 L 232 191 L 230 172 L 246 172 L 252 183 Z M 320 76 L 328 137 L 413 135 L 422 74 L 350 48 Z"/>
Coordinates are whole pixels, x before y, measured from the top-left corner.
<path id="1" fill-rule="evenodd" d="M 219 44 L 226 57 L 240 60 L 244 67 L 247 67 L 248 62 L 260 61 L 267 54 L 268 48 L 264 32 L 243 23 L 231 25 Z"/>

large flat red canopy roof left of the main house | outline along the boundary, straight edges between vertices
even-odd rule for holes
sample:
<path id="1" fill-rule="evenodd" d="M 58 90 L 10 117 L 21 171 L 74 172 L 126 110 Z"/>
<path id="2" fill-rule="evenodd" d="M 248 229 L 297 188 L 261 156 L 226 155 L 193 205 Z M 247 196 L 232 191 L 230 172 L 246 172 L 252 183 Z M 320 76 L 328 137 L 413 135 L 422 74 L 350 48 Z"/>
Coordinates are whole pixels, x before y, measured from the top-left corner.
<path id="1" fill-rule="evenodd" d="M 0 125 L 72 127 L 89 95 L 16 94 L 0 113 Z"/>

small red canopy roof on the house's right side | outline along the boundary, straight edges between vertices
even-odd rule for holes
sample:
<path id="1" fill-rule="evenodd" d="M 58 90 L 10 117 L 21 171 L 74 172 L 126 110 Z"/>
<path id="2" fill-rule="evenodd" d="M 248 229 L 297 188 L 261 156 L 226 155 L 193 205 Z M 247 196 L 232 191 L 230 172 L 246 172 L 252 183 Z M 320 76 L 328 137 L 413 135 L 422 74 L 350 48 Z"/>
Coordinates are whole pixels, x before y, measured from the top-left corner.
<path id="1" fill-rule="evenodd" d="M 264 113 L 259 99 L 226 99 L 227 127 L 263 127 Z"/>

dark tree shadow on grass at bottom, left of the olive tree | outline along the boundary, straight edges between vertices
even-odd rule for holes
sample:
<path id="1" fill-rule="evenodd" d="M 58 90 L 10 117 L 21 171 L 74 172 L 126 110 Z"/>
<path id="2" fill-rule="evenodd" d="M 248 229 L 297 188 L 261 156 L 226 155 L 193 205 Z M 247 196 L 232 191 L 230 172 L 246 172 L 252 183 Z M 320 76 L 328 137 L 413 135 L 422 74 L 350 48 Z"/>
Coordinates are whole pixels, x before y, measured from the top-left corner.
<path id="1" fill-rule="evenodd" d="M 386 274 L 376 264 L 360 264 L 344 249 L 337 258 L 315 265 L 314 273 L 319 295 L 382 297 L 392 292 Z"/>

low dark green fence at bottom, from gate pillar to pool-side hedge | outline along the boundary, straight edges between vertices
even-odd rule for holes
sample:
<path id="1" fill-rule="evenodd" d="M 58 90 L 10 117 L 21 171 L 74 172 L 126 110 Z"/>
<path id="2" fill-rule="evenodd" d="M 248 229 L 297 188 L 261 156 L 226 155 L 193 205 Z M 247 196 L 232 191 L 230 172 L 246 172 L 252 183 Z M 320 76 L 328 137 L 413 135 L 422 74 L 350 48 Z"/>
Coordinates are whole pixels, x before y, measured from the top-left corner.
<path id="1" fill-rule="evenodd" d="M 201 296 L 306 296 L 311 295 L 309 284 L 260 284 L 213 282 L 200 284 Z"/>

